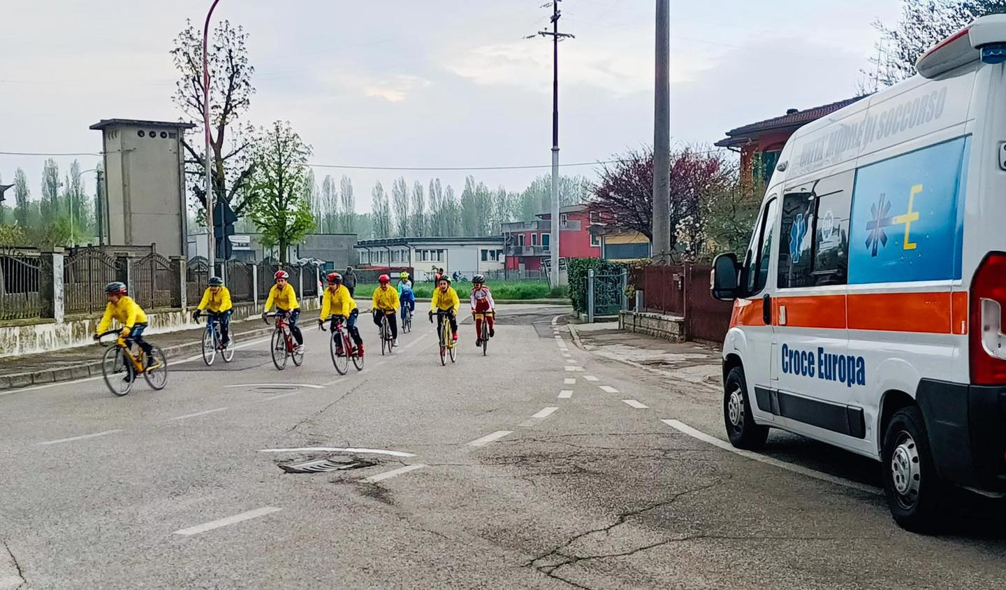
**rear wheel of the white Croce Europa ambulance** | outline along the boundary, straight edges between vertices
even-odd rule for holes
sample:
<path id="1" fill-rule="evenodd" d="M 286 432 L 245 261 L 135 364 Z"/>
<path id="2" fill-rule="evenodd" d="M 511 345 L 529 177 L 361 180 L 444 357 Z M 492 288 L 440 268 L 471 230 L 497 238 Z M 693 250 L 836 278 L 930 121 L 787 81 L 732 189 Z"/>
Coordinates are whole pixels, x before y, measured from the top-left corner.
<path id="1" fill-rule="evenodd" d="M 948 485 L 937 474 L 923 413 L 894 413 L 883 437 L 883 490 L 894 522 L 915 533 L 935 531 Z"/>

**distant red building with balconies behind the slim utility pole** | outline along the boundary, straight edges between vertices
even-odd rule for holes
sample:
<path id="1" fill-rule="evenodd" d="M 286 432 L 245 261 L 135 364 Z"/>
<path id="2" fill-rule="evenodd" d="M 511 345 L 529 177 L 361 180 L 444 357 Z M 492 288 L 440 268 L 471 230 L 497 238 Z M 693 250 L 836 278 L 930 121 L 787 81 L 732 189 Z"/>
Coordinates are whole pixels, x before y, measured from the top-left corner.
<path id="1" fill-rule="evenodd" d="M 551 213 L 539 213 L 533 222 L 503 224 L 503 244 L 507 270 L 537 271 L 542 260 L 551 256 Z M 601 258 L 601 239 L 591 234 L 598 213 L 586 205 L 564 206 L 559 210 L 559 257 Z"/>

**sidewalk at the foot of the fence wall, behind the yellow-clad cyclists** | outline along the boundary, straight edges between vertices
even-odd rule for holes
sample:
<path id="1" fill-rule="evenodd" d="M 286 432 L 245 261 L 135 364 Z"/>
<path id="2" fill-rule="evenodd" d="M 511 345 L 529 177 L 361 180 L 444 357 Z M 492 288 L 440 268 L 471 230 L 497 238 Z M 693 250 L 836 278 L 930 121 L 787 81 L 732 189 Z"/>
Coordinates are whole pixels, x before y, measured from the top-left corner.
<path id="1" fill-rule="evenodd" d="M 189 356 L 202 350 L 205 330 L 203 327 L 151 334 L 148 340 L 160 346 L 170 361 L 171 358 Z M 230 331 L 238 344 L 262 337 L 272 330 L 272 325 L 258 318 L 230 322 Z M 0 391 L 101 375 L 104 353 L 104 347 L 92 344 L 0 358 Z"/>

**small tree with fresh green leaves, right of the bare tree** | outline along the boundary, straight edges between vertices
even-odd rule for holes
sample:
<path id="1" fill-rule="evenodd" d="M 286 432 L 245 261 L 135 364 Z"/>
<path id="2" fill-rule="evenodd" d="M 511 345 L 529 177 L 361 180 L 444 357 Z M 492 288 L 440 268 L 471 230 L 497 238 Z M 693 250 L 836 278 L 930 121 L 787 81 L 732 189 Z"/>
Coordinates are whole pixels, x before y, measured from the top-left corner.
<path id="1" fill-rule="evenodd" d="M 262 131 L 254 151 L 252 217 L 262 232 L 266 248 L 279 248 L 280 261 L 287 262 L 290 246 L 314 229 L 311 214 L 306 145 L 289 122 L 275 122 Z"/>

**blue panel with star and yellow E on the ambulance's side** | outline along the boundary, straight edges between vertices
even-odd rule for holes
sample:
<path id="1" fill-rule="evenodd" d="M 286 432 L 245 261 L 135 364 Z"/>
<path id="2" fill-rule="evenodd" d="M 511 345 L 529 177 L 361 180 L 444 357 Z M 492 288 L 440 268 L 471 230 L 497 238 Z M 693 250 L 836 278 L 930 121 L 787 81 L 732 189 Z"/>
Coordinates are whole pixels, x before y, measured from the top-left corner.
<path id="1" fill-rule="evenodd" d="M 849 283 L 961 278 L 966 165 L 960 137 L 856 171 Z"/>

